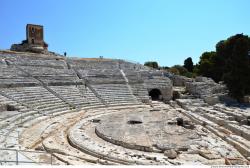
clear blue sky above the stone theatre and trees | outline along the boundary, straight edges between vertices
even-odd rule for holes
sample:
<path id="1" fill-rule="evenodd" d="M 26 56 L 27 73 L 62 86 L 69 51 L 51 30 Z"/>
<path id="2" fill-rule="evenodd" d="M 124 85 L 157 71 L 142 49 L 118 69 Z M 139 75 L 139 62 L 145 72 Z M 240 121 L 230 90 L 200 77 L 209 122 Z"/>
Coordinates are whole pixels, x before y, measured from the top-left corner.
<path id="1" fill-rule="evenodd" d="M 250 0 L 0 0 L 0 19 L 0 49 L 33 23 L 44 25 L 51 51 L 172 66 L 250 35 Z"/>

